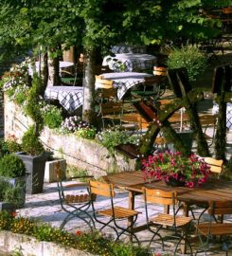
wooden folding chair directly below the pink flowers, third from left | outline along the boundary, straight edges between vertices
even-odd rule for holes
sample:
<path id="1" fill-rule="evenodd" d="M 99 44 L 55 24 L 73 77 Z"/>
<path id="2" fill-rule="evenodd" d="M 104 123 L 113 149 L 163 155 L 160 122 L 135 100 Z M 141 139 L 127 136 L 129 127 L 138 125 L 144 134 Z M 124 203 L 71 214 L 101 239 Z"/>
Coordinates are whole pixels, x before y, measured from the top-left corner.
<path id="1" fill-rule="evenodd" d="M 173 255 L 176 254 L 177 248 L 182 240 L 185 240 L 190 248 L 190 255 L 192 255 L 191 245 L 187 239 L 187 232 L 190 228 L 191 218 L 177 215 L 180 208 L 176 210 L 178 203 L 176 199 L 176 192 L 165 192 L 161 190 L 143 188 L 143 195 L 145 201 L 147 227 L 153 233 L 150 245 L 152 242 L 156 241 L 154 238 L 157 236 L 161 240 L 162 247 L 164 249 L 164 236 L 161 235 L 160 231 L 161 229 L 169 228 L 167 230 L 172 232 L 169 237 L 178 239 Z M 172 206 L 172 213 L 158 213 L 157 215 L 150 217 L 148 203 Z M 152 227 L 155 227 L 156 229 L 152 229 Z"/>

